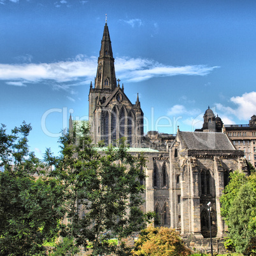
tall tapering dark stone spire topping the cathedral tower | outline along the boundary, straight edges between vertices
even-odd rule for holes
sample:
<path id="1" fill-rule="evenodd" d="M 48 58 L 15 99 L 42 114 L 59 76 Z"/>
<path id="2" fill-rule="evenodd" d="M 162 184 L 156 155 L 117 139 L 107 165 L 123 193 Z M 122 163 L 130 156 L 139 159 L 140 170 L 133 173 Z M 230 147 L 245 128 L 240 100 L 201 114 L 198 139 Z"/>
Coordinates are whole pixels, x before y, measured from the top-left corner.
<path id="1" fill-rule="evenodd" d="M 105 23 L 103 39 L 101 40 L 101 50 L 99 51 L 97 75 L 95 78 L 96 89 L 114 90 L 117 87 L 114 62 L 115 59 L 113 58 L 110 32 L 108 31 L 108 24 Z"/>

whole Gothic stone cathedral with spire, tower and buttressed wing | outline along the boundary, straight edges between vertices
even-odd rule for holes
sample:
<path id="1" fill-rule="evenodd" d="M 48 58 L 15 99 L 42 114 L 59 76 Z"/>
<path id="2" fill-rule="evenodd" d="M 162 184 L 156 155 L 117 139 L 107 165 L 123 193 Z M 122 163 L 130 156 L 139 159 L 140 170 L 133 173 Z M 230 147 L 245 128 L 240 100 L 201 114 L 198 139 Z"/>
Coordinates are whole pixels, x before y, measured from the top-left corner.
<path id="1" fill-rule="evenodd" d="M 101 50 L 94 85 L 89 90 L 89 121 L 94 143 L 117 145 L 125 137 L 129 152 L 144 152 L 148 159 L 145 173 L 145 211 L 155 211 L 155 225 L 172 227 L 180 232 L 188 245 L 195 248 L 209 242 L 207 203 L 211 202 L 211 229 L 218 250 L 218 239 L 227 231 L 220 216 L 220 196 L 229 181 L 229 173 L 236 169 L 246 172 L 244 152 L 236 150 L 222 130 L 185 132 L 178 129 L 176 136 L 150 131 L 143 136 L 143 111 L 137 97 L 131 103 L 124 85 L 115 75 L 115 59 L 110 32 L 104 25 Z M 208 117 L 213 113 L 206 110 Z M 214 116 L 215 118 L 215 116 Z M 209 119 L 208 119 L 209 121 Z M 209 123 L 209 122 L 208 122 Z M 69 129 L 72 128 L 72 120 Z"/>

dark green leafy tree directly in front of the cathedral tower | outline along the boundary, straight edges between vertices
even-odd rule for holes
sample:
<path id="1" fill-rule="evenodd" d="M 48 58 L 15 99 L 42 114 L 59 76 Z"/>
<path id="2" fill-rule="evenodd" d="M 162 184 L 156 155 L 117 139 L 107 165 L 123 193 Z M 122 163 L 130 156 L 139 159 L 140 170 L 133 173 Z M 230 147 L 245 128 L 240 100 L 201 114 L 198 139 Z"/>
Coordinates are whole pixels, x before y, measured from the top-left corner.
<path id="1" fill-rule="evenodd" d="M 92 255 L 118 252 L 111 238 L 121 241 L 145 227 L 148 215 L 141 210 L 145 174 L 142 155 L 127 153 L 125 141 L 99 153 L 92 145 L 86 123 L 60 138 L 60 157 L 48 150 L 45 160 L 54 164 L 52 175 L 66 191 L 67 212 L 63 238 L 75 238 L 76 246 L 88 247 Z M 120 249 L 120 248 L 119 248 Z"/>

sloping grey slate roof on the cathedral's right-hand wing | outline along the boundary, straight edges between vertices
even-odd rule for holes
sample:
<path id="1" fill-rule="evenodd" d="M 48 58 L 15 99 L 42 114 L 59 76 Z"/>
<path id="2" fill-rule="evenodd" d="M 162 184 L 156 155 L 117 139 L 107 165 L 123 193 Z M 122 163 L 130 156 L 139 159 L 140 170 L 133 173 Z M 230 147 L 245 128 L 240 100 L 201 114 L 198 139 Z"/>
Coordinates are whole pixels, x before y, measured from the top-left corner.
<path id="1" fill-rule="evenodd" d="M 192 150 L 236 150 L 222 132 L 180 132 L 181 139 Z"/>

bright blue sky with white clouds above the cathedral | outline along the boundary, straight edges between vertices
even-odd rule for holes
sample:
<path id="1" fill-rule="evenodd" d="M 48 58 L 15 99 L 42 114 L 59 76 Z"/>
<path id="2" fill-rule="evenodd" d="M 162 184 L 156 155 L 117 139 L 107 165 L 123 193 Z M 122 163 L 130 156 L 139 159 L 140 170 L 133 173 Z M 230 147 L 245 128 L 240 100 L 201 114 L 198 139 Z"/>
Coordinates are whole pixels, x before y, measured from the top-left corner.
<path id="1" fill-rule="evenodd" d="M 31 123 L 31 150 L 57 153 L 59 132 L 88 115 L 105 14 L 117 78 L 137 93 L 145 132 L 224 124 L 256 114 L 255 1 L 0 0 L 1 118 Z"/>

